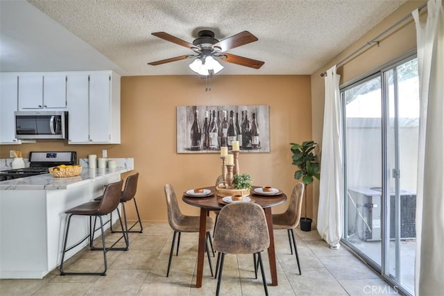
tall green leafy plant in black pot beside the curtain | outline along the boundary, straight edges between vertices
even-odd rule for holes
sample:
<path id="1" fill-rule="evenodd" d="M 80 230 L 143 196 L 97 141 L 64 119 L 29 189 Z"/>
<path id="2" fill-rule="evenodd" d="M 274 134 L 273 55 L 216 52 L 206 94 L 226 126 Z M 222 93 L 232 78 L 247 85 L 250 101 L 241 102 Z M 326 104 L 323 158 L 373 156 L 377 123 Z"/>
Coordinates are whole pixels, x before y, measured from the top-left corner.
<path id="1" fill-rule="evenodd" d="M 307 185 L 313 183 L 314 178 L 319 180 L 319 172 L 321 171 L 318 159 L 313 153 L 317 144 L 314 141 L 304 141 L 302 144 L 290 143 L 290 145 L 293 153 L 292 164 L 299 168 L 298 171 L 295 171 L 294 178 L 302 180 L 305 187 L 305 216 L 300 218 L 300 229 L 309 232 L 311 230 L 311 218 L 307 217 Z"/>

